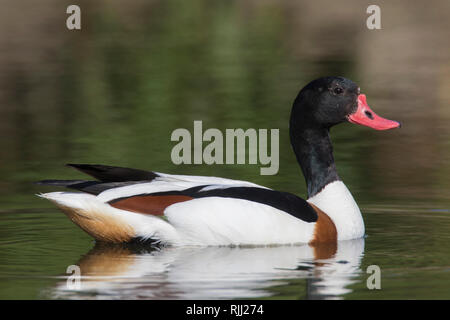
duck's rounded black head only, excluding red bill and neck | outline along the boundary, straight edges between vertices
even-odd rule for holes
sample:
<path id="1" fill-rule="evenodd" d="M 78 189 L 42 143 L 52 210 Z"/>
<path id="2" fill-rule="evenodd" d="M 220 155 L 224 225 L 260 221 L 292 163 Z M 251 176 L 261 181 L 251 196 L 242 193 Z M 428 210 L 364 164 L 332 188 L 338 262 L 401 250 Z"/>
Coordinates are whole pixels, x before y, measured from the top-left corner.
<path id="1" fill-rule="evenodd" d="M 343 77 L 311 81 L 298 94 L 291 122 L 330 128 L 347 121 L 358 108 L 359 87 Z"/>

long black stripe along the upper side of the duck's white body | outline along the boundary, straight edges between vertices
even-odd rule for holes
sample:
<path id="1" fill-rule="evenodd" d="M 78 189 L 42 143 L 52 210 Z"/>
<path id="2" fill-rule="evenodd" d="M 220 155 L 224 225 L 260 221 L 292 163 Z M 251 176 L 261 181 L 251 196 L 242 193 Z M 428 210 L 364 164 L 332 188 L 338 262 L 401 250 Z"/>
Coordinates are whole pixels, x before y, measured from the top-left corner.
<path id="1" fill-rule="evenodd" d="M 317 221 L 317 213 L 309 205 L 309 203 L 306 200 L 297 197 L 296 195 L 289 192 L 275 191 L 271 189 L 264 189 L 258 187 L 230 187 L 230 188 L 202 191 L 202 189 L 204 189 L 205 187 L 208 187 L 208 185 L 193 187 L 181 191 L 146 193 L 131 197 L 149 196 L 149 195 L 152 196 L 184 195 L 192 198 L 223 197 L 223 198 L 242 199 L 274 207 L 305 222 Z M 109 201 L 109 203 L 114 203 L 131 197 L 114 199 Z"/>

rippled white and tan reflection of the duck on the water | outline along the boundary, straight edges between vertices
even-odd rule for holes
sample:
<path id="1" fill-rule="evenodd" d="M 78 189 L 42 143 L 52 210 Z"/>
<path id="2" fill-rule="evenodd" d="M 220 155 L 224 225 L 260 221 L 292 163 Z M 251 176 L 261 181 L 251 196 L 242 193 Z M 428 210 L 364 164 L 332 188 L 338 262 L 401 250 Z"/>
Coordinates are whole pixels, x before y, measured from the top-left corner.
<path id="1" fill-rule="evenodd" d="M 327 251 L 321 244 L 321 252 Z M 332 251 L 331 249 L 330 251 Z M 364 239 L 340 241 L 317 257 L 317 246 L 173 247 L 141 250 L 97 244 L 79 262 L 81 289 L 61 281 L 50 293 L 70 299 L 232 299 L 271 296 L 304 279 L 296 298 L 334 299 L 350 292 L 360 273 Z M 306 292 L 304 292 L 306 290 Z"/>

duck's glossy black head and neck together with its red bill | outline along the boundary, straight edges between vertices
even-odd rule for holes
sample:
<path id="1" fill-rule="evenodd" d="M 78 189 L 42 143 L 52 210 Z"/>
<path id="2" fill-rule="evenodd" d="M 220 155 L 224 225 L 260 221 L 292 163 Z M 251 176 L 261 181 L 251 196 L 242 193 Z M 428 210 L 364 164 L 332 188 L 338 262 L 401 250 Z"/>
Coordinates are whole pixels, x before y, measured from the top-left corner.
<path id="1" fill-rule="evenodd" d="M 307 84 L 294 101 L 289 134 L 310 197 L 339 180 L 329 129 L 351 122 L 376 130 L 397 128 L 400 123 L 379 117 L 367 105 L 358 86 L 343 77 L 325 77 Z"/>

